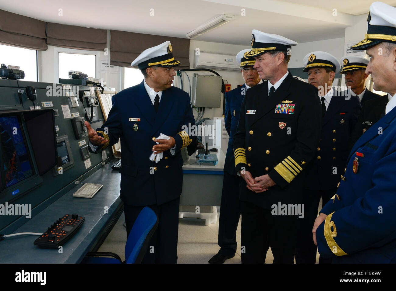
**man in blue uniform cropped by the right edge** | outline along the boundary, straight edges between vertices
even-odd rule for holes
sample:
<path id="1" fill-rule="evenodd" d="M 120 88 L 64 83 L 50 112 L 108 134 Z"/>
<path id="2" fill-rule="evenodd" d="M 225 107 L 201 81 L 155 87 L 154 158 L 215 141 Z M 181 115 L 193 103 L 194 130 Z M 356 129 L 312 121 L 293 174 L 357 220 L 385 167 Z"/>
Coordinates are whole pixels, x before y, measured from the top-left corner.
<path id="1" fill-rule="evenodd" d="M 390 100 L 352 147 L 337 193 L 315 221 L 314 242 L 333 263 L 396 263 L 396 8 L 374 2 L 367 21 L 352 49 L 367 50 L 366 74 Z"/>

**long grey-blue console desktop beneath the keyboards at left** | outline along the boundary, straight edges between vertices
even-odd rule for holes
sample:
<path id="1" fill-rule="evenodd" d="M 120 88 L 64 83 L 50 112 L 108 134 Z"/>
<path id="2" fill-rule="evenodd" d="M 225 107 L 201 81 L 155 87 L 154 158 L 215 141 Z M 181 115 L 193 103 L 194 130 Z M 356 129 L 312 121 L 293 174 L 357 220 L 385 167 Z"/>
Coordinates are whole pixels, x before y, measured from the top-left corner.
<path id="1" fill-rule="evenodd" d="M 76 234 L 65 243 L 63 253 L 59 253 L 58 249 L 44 249 L 35 246 L 33 242 L 38 236 L 12 236 L 0 242 L 0 262 L 79 263 L 107 228 L 110 218 L 120 206 L 120 179 L 120 173 L 112 170 L 108 163 L 83 181 L 84 183 L 103 184 L 102 189 L 93 198 L 73 197 L 73 193 L 82 186 L 76 185 L 13 232 L 43 233 L 54 221 L 65 214 L 77 213 L 84 216 L 84 223 Z M 108 214 L 105 214 L 106 207 Z"/>

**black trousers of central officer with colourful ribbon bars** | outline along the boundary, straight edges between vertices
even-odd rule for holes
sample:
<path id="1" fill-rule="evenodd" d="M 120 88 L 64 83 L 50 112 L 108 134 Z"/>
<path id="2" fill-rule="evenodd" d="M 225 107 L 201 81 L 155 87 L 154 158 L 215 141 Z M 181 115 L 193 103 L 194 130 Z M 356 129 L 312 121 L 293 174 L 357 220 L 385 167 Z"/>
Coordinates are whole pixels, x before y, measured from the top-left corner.
<path id="1" fill-rule="evenodd" d="M 294 263 L 298 215 L 272 215 L 271 209 L 246 201 L 241 201 L 241 213 L 242 263 L 264 263 L 268 243 L 273 263 Z"/>

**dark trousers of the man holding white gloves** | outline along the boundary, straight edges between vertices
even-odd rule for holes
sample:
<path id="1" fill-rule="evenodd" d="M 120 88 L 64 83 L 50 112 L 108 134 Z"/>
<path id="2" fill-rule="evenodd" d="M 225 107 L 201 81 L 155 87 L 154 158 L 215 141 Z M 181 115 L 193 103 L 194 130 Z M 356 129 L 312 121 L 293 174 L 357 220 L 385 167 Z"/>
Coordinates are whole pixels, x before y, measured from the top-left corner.
<path id="1" fill-rule="evenodd" d="M 158 216 L 154 232 L 142 263 L 177 263 L 180 197 L 162 205 L 147 205 Z M 127 238 L 137 215 L 145 206 L 124 205 Z"/>

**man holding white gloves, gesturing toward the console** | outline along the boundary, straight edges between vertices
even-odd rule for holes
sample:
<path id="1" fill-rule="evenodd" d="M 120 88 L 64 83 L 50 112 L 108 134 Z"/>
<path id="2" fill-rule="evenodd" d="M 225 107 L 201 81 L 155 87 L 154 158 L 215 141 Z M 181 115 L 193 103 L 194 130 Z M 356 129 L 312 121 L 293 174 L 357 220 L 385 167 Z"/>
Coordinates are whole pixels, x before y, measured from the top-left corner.
<path id="1" fill-rule="evenodd" d="M 173 67 L 179 64 L 170 42 L 146 49 L 131 63 L 142 71 L 143 81 L 112 97 L 113 105 L 102 127 L 93 130 L 86 122 L 90 148 L 95 153 L 121 137 L 120 197 L 127 237 L 145 206 L 158 217 L 158 228 L 149 233 L 151 239 L 143 244 L 147 251 L 142 263 L 177 263 L 183 182 L 180 150 L 187 147 L 192 154 L 196 149 L 196 137 L 182 130 L 183 126 L 195 125 L 190 98 L 171 86 L 176 75 Z M 155 159 L 150 159 L 152 153 L 156 154 Z"/>

